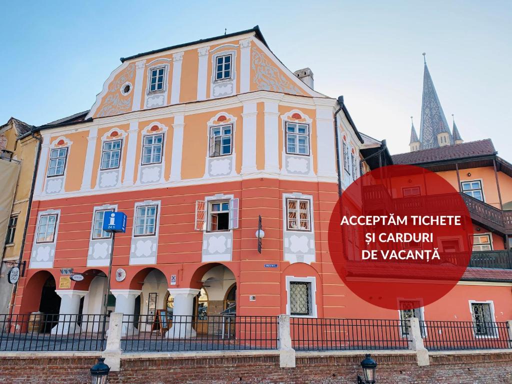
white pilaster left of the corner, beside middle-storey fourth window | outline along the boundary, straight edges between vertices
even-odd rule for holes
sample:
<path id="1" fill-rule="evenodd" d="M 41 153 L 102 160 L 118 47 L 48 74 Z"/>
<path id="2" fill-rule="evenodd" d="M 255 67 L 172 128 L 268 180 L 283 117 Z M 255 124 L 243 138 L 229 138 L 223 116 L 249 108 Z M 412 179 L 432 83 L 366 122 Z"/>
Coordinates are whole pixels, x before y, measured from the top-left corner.
<path id="1" fill-rule="evenodd" d="M 242 174 L 253 173 L 256 168 L 256 117 L 255 102 L 244 103 L 242 113 Z"/>

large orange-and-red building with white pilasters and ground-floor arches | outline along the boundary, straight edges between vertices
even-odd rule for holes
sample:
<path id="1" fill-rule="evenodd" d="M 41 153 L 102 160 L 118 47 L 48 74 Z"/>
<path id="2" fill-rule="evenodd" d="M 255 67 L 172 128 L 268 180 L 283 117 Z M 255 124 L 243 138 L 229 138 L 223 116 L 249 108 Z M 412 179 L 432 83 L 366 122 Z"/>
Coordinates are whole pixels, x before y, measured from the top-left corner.
<path id="1" fill-rule="evenodd" d="M 414 313 L 361 301 L 332 265 L 338 193 L 391 157 L 385 142 L 357 132 L 342 98 L 313 90 L 311 70 L 290 72 L 258 27 L 121 61 L 90 111 L 39 127 L 16 313 L 101 313 L 112 246 L 105 210 L 128 217 L 115 240 L 111 310 Z M 69 283 L 70 268 L 86 279 Z M 420 315 L 471 320 L 470 303 L 493 301 L 494 319 L 512 318 L 512 275 L 500 273 L 468 274 Z M 69 285 L 57 288 L 62 277 Z"/>

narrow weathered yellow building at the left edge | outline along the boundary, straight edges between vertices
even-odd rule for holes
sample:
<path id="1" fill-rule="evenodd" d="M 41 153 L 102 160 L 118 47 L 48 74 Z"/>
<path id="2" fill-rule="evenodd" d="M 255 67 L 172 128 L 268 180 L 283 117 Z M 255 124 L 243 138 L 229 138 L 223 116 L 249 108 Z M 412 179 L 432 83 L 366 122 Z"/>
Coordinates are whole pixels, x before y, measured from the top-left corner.
<path id="1" fill-rule="evenodd" d="M 0 126 L 0 174 L 5 183 L 0 196 L 0 313 L 9 311 L 14 284 L 7 281 L 7 273 L 23 252 L 25 222 L 40 146 L 37 135 L 32 134 L 31 125 L 13 117 Z M 12 177 L 6 179 L 7 174 Z"/>

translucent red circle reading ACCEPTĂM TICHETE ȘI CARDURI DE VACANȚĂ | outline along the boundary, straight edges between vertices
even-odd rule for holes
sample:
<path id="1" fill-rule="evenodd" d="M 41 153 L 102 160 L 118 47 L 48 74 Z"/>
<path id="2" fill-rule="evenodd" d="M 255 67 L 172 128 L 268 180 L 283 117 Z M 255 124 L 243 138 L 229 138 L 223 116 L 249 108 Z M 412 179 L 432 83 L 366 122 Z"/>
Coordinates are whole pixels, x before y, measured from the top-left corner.
<path id="1" fill-rule="evenodd" d="M 355 180 L 329 223 L 329 251 L 343 282 L 387 309 L 439 300 L 462 278 L 472 248 L 473 223 L 459 191 L 411 165 Z"/>

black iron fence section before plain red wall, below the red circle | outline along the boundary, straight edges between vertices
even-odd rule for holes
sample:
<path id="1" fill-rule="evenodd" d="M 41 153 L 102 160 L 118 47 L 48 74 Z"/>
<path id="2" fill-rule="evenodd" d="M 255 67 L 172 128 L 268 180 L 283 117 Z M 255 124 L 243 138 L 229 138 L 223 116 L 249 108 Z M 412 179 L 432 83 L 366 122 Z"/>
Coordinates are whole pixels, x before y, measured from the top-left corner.
<path id="1" fill-rule="evenodd" d="M 351 318 L 290 319 L 295 350 L 396 350 L 408 349 L 408 335 L 399 320 Z"/>

